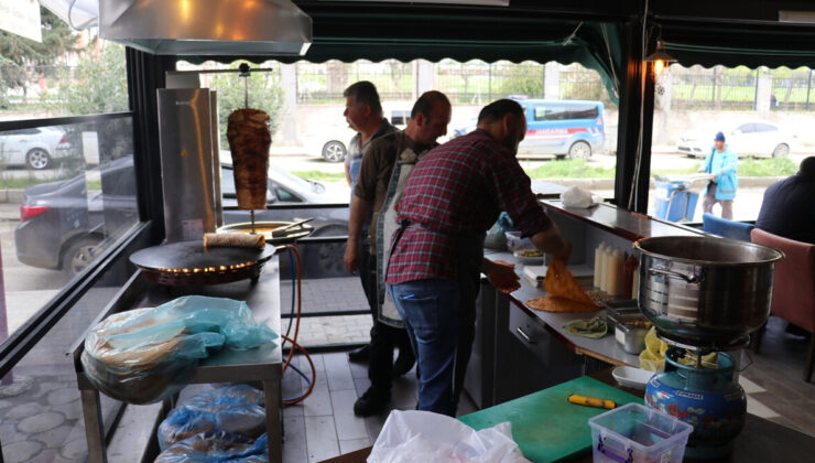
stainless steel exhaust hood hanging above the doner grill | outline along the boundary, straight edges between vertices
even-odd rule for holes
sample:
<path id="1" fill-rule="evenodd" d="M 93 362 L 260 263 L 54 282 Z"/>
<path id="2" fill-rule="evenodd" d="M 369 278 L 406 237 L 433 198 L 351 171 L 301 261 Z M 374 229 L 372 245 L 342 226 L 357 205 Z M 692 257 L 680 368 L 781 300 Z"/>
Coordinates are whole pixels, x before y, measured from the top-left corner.
<path id="1" fill-rule="evenodd" d="M 99 0 L 99 35 L 157 55 L 304 55 L 312 19 L 289 0 Z"/>

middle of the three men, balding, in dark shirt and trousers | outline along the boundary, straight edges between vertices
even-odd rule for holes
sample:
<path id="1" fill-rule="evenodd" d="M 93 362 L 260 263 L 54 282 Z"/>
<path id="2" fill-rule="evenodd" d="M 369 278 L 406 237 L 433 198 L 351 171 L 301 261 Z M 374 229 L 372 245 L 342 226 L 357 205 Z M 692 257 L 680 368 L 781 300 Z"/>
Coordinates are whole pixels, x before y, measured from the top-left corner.
<path id="1" fill-rule="evenodd" d="M 360 259 L 365 256 L 356 244 L 365 233 L 362 225 L 370 211 L 373 211 L 373 215 L 369 228 L 371 260 L 368 265 L 381 267 L 377 259 L 382 257 L 382 241 L 390 243 L 390 236 L 383 239 L 380 229 L 383 206 L 390 205 L 395 195 L 401 193 L 400 186 L 404 185 L 402 175 L 408 174 L 412 165 L 436 146 L 436 139 L 446 133 L 449 120 L 450 104 L 447 97 L 441 91 L 427 91 L 416 100 L 403 131 L 387 134 L 370 144 L 362 160 L 351 201 L 345 254 L 345 263 L 349 271 L 362 269 Z M 377 280 L 384 282 L 384 278 Z M 381 288 L 384 289 L 384 286 Z M 398 314 L 394 317 L 382 312 L 383 295 L 378 294 L 379 313 L 371 330 L 368 364 L 371 387 L 354 405 L 354 412 L 362 417 L 381 411 L 390 400 L 391 377 L 402 375 L 415 363 L 402 320 Z M 399 347 L 399 358 L 392 365 L 394 346 Z"/>

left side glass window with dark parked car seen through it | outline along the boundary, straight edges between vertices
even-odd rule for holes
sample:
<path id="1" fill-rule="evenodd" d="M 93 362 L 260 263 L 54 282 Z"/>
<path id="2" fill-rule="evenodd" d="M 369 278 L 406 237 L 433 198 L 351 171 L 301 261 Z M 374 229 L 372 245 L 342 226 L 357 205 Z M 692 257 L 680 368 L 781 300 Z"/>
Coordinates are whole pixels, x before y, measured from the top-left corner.
<path id="1" fill-rule="evenodd" d="M 0 342 L 48 310 L 140 219 L 124 47 L 41 14 L 42 44 L 0 32 L 17 50 L 0 46 Z M 7 461 L 87 459 L 73 358 L 64 354 L 130 276 L 124 261 L 1 378 Z M 106 421 L 118 408 L 102 396 Z"/>

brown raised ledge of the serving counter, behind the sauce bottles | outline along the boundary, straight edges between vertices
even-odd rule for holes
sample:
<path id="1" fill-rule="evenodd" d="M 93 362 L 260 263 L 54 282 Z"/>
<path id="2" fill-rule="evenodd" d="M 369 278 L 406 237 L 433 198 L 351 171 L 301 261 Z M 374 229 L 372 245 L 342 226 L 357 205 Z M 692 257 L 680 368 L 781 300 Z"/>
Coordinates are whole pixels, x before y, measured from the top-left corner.
<path id="1" fill-rule="evenodd" d="M 563 214 L 610 232 L 621 238 L 635 241 L 656 236 L 699 236 L 702 230 L 681 224 L 660 220 L 646 215 L 632 213 L 611 204 L 601 203 L 587 209 L 565 207 L 561 200 L 543 200 L 548 213 Z"/>

